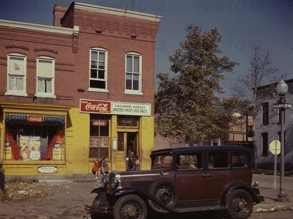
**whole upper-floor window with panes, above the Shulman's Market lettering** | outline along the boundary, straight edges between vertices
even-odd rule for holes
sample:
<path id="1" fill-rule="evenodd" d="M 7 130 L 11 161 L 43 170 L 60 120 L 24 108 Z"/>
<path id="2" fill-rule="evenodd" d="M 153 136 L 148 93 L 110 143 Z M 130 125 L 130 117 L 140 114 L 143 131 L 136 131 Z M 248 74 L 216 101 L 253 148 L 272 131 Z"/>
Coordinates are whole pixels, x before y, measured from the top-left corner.
<path id="1" fill-rule="evenodd" d="M 138 53 L 126 54 L 125 93 L 142 94 L 142 55 Z"/>

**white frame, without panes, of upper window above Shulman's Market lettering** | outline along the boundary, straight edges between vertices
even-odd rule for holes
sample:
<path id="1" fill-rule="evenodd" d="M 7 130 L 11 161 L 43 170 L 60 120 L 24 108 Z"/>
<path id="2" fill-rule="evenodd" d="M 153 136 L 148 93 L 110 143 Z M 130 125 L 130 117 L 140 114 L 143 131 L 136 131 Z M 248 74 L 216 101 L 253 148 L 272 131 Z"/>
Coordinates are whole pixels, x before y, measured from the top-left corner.
<path id="1" fill-rule="evenodd" d="M 136 56 L 139 57 L 139 73 L 133 72 L 133 66 L 132 66 L 132 72 L 127 72 L 127 56 Z M 133 59 L 132 59 L 133 60 Z M 136 53 L 136 52 L 127 52 L 125 54 L 125 94 L 135 94 L 135 95 L 143 95 L 142 92 L 142 69 L 143 69 L 143 56 L 140 53 Z M 133 65 L 133 62 L 132 62 Z M 133 90 L 133 89 L 126 89 L 126 73 L 130 73 L 130 74 L 137 74 L 139 76 L 138 78 L 138 90 Z M 132 80 L 133 82 L 133 80 Z"/>

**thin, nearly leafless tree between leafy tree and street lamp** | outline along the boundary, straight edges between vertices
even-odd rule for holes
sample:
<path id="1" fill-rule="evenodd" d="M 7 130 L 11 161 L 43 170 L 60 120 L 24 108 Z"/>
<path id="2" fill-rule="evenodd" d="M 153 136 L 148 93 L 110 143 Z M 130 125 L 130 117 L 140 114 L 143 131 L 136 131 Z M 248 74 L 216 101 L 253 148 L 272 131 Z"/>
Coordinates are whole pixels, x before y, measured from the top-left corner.
<path id="1" fill-rule="evenodd" d="M 272 66 L 270 52 L 264 52 L 260 48 L 255 48 L 249 60 L 249 68 L 244 75 L 237 78 L 233 87 L 233 94 L 242 100 L 247 100 L 252 107 L 250 115 L 253 119 L 253 133 L 255 133 L 255 118 L 262 110 L 262 104 L 267 97 L 272 95 L 272 85 L 277 81 L 275 73 L 277 68 Z M 262 89 L 262 92 L 257 93 L 257 88 L 267 82 L 268 86 Z M 256 95 L 256 93 L 258 95 Z M 254 167 L 257 169 L 257 153 L 255 136 L 253 137 L 254 147 Z"/>

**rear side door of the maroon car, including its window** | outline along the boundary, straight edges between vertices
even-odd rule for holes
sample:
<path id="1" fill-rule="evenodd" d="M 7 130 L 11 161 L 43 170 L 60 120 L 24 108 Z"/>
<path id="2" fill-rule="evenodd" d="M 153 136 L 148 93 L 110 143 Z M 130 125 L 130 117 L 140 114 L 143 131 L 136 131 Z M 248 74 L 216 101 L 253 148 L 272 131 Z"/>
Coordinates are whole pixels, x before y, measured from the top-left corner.
<path id="1" fill-rule="evenodd" d="M 218 199 L 231 182 L 228 152 L 208 152 L 206 171 L 206 199 Z"/>

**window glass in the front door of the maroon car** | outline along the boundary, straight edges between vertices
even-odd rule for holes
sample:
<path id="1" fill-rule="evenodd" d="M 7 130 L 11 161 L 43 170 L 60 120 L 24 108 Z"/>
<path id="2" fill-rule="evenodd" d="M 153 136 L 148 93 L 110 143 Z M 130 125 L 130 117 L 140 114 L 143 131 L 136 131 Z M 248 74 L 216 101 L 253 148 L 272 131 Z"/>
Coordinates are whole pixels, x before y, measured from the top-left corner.
<path id="1" fill-rule="evenodd" d="M 201 169 L 202 168 L 202 154 L 191 153 L 181 154 L 177 156 L 176 169 Z"/>

